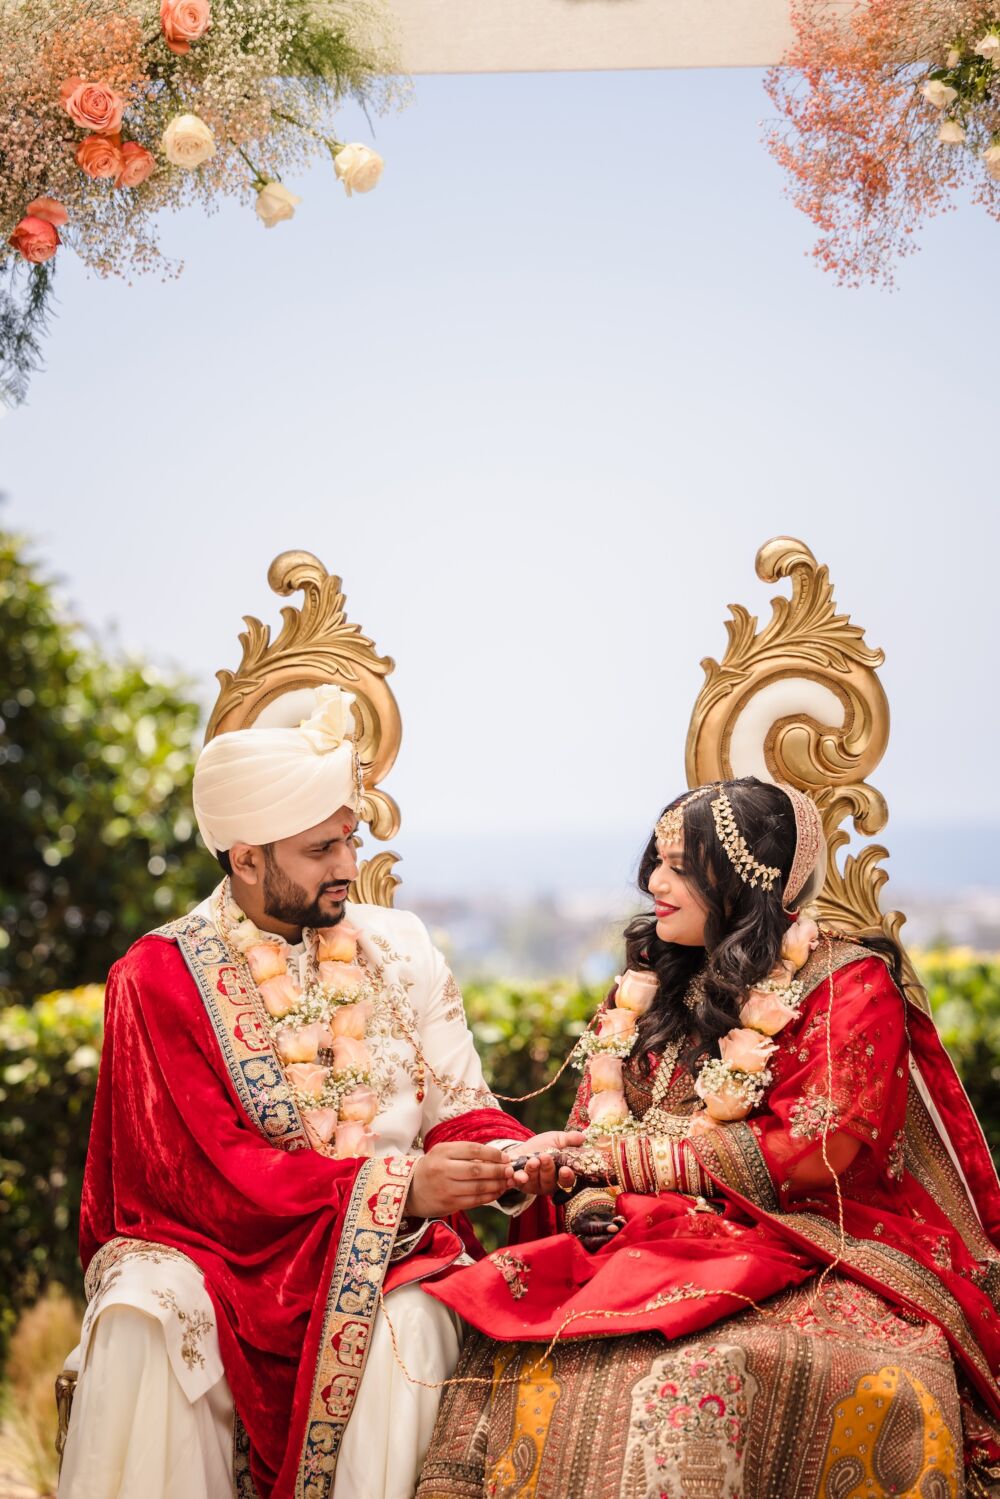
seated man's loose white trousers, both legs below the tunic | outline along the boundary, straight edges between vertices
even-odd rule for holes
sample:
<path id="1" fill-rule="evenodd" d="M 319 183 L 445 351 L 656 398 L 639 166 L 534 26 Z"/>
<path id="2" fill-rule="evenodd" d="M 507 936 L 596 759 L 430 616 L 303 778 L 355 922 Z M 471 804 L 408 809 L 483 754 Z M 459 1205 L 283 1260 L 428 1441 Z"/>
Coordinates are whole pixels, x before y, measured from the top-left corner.
<path id="1" fill-rule="evenodd" d="M 387 1298 L 400 1358 L 417 1379 L 447 1379 L 462 1322 L 420 1286 Z M 439 1390 L 412 1384 L 379 1309 L 361 1388 L 337 1460 L 334 1499 L 412 1499 Z M 99 1313 L 79 1372 L 58 1499 L 231 1499 L 232 1396 L 225 1379 L 189 1400 L 156 1318 Z"/>

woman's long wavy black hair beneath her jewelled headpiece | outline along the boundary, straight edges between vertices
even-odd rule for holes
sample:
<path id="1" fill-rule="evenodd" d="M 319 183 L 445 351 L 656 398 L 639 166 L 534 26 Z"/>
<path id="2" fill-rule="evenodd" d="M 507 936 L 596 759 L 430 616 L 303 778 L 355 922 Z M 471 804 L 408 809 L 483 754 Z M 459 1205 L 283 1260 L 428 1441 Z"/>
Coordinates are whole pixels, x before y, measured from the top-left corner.
<path id="1" fill-rule="evenodd" d="M 733 808 L 736 826 L 754 859 L 781 871 L 769 890 L 744 883 L 729 860 L 712 817 L 712 797 L 703 796 L 684 808 L 684 874 L 706 907 L 705 947 L 682 947 L 657 937 L 651 913 L 636 916 L 625 928 L 625 959 L 630 968 L 652 968 L 660 979 L 655 1003 L 639 1021 L 637 1054 L 663 1051 L 687 1036 L 691 1016 L 684 995 L 694 974 L 703 967 L 699 1003 L 697 1052 L 739 1024 L 739 1007 L 747 989 L 765 979 L 778 961 L 789 916 L 781 904 L 792 860 L 796 826 L 789 797 L 777 785 L 748 775 L 723 782 Z M 687 796 L 688 793 L 685 793 Z M 676 806 L 684 796 L 676 797 Z M 669 808 L 664 808 L 669 811 Z M 655 835 L 646 844 L 639 865 L 639 889 L 649 893 L 649 878 L 660 863 Z M 889 938 L 870 937 L 864 946 L 889 958 L 892 976 L 900 983 L 903 958 Z"/>

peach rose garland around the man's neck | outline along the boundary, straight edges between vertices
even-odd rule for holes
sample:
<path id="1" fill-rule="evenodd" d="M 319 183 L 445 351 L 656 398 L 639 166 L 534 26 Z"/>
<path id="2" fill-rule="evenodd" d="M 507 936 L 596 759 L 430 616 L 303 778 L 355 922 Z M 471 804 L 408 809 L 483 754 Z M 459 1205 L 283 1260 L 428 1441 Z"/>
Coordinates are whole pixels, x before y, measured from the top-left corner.
<path id="1" fill-rule="evenodd" d="M 366 1039 L 375 988 L 357 962 L 358 932 L 340 922 L 312 934 L 301 986 L 288 944 L 264 937 L 234 902 L 223 904 L 219 925 L 250 970 L 309 1139 L 339 1157 L 370 1156 L 369 1126 L 381 1105 Z"/>

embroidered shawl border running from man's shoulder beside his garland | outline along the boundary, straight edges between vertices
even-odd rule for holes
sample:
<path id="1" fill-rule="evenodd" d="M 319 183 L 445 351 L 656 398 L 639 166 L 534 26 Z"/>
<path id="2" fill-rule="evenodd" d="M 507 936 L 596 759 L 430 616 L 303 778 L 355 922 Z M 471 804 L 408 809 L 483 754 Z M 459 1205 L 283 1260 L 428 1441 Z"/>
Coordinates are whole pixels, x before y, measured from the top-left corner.
<path id="1" fill-rule="evenodd" d="M 253 997 L 216 928 L 190 914 L 162 926 L 159 935 L 181 950 L 250 1123 L 282 1150 L 312 1150 Z"/>

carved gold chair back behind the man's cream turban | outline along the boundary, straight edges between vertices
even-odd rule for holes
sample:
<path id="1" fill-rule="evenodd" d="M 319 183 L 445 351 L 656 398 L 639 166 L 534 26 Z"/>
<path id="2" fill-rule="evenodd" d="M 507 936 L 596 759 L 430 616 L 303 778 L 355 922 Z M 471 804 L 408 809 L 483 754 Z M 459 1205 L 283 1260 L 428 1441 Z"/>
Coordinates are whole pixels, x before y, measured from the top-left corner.
<path id="1" fill-rule="evenodd" d="M 333 682 L 354 693 L 364 779 L 360 818 L 375 838 L 394 838 L 399 806 L 379 782 L 391 770 L 402 739 L 399 705 L 387 681 L 396 663 L 391 657 L 381 657 L 361 627 L 348 621 L 340 579 L 327 573 L 312 552 L 282 552 L 267 570 L 267 582 L 282 598 L 301 594 L 303 603 L 298 607 L 283 606 L 276 640 L 271 640 L 268 625 L 252 615 L 243 616 L 243 660 L 235 672 L 216 673 L 219 697 L 208 718 L 205 741 L 267 723 L 271 706 L 289 693 L 303 694 L 303 717 L 309 714 L 306 690 Z M 391 905 L 399 884 L 393 874 L 397 862 L 397 856 L 388 851 L 366 860 L 351 889 L 351 899 Z"/>

